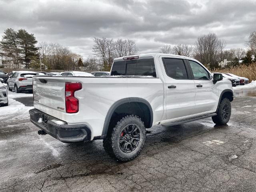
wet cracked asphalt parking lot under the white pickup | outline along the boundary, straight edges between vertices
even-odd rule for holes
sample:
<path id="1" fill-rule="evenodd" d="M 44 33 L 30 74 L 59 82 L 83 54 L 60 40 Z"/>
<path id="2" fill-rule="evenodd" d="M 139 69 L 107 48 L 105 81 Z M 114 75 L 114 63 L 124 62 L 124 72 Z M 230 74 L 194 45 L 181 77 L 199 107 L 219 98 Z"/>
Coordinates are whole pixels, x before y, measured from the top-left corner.
<path id="1" fill-rule="evenodd" d="M 126 163 L 101 140 L 65 144 L 29 119 L 0 122 L 0 191 L 256 191 L 256 89 L 235 95 L 227 125 L 154 126 Z"/>

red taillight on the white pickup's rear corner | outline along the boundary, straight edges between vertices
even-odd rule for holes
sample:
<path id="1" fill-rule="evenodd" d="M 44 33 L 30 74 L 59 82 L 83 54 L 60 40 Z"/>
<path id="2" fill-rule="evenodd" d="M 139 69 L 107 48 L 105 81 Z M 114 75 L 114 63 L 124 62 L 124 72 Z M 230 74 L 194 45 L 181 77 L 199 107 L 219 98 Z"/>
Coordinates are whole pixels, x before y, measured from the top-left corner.
<path id="1" fill-rule="evenodd" d="M 65 103 L 67 113 L 77 113 L 79 110 L 79 100 L 75 98 L 75 92 L 82 89 L 82 84 L 78 82 L 65 83 Z"/>

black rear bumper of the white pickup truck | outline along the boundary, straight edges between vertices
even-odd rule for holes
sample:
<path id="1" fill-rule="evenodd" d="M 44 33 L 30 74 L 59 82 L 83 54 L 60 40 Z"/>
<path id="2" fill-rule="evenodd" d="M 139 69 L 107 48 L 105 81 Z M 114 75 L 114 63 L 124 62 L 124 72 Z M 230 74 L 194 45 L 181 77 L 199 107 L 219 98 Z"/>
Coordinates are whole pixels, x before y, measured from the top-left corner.
<path id="1" fill-rule="evenodd" d="M 41 130 L 44 130 L 50 136 L 60 140 L 61 142 L 71 143 L 79 141 L 89 141 L 91 139 L 91 131 L 85 124 L 68 125 L 57 124 L 52 120 L 58 120 L 37 109 L 29 110 L 30 121 Z"/>

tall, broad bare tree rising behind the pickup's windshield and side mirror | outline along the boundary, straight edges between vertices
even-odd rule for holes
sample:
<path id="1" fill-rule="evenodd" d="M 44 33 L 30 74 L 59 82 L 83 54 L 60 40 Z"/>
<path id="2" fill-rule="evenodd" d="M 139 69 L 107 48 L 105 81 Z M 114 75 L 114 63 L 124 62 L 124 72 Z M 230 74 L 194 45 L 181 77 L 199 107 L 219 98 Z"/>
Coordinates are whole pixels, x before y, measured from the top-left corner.
<path id="1" fill-rule="evenodd" d="M 219 40 L 214 33 L 199 36 L 195 44 L 195 57 L 210 69 L 216 68 L 225 45 L 226 42 Z"/>

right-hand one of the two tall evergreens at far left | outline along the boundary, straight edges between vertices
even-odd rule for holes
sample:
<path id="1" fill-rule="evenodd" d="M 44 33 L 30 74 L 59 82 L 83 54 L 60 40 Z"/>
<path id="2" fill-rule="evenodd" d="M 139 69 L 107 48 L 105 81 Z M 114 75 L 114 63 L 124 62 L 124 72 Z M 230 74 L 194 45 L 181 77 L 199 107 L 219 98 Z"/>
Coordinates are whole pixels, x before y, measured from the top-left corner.
<path id="1" fill-rule="evenodd" d="M 17 37 L 22 54 L 22 61 L 25 63 L 26 68 L 28 68 L 31 58 L 37 54 L 37 40 L 34 34 L 29 34 L 24 29 L 18 30 Z"/>

